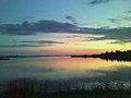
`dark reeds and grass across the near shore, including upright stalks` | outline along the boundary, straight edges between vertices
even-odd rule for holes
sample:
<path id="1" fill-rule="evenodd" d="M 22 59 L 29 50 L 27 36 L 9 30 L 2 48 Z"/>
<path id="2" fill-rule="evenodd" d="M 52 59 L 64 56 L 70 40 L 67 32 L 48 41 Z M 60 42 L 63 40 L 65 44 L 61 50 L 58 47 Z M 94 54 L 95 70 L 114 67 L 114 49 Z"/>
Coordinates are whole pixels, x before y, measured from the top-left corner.
<path id="1" fill-rule="evenodd" d="M 53 84 L 55 82 L 52 82 Z M 69 83 L 55 83 L 57 90 L 51 90 L 52 84 L 38 83 L 35 79 L 13 79 L 5 84 L 0 98 L 130 98 L 131 83 L 124 82 L 97 82 L 92 89 L 85 88 L 84 83 L 79 83 L 76 88 Z M 59 84 L 59 85 L 58 85 Z M 43 88 L 43 89 L 41 89 Z M 53 88 L 53 87 L 52 87 Z"/>

